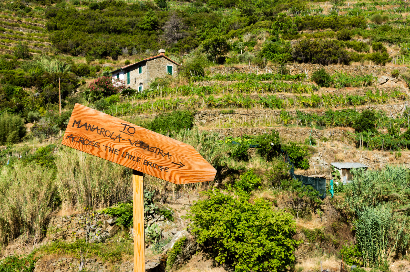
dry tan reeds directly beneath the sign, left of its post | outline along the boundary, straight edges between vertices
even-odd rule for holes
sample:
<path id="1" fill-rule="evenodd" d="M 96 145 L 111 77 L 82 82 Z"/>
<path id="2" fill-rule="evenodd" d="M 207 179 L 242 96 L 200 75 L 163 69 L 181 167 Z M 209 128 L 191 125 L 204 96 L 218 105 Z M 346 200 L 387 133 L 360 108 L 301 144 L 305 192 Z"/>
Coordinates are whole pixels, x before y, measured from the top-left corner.
<path id="1" fill-rule="evenodd" d="M 132 170 L 69 147 L 57 154 L 57 179 L 63 211 L 105 208 L 132 199 Z"/>

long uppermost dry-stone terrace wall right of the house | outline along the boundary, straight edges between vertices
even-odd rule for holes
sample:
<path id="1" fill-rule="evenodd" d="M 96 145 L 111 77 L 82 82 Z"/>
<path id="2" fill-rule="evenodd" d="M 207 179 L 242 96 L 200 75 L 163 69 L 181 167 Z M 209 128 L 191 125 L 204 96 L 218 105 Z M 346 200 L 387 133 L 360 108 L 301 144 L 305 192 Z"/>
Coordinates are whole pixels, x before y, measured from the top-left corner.
<path id="1" fill-rule="evenodd" d="M 312 63 L 289 63 L 286 64 L 288 70 L 292 75 L 297 75 L 301 73 L 307 73 L 310 76 L 314 71 L 324 68 L 326 72 L 330 75 L 333 75 L 335 72 L 343 72 L 349 75 L 369 75 L 369 74 L 377 74 L 377 75 L 390 75 L 393 70 L 397 69 L 400 73 L 403 73 L 408 70 L 407 67 L 391 67 L 391 66 L 353 66 L 353 65 L 321 65 L 321 64 L 312 64 Z M 217 66 L 205 69 L 210 75 L 215 74 L 225 74 L 225 73 L 280 73 L 280 66 L 275 67 L 265 67 L 265 68 L 258 68 L 258 66 L 254 65 L 237 65 L 237 66 Z"/>

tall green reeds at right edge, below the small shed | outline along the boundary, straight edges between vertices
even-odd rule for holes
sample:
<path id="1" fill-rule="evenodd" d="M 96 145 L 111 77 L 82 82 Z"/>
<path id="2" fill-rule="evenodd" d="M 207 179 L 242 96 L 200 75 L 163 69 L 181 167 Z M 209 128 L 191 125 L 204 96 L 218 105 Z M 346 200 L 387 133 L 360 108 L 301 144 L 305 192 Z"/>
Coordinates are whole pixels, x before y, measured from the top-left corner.
<path id="1" fill-rule="evenodd" d="M 355 211 L 358 247 L 366 267 L 380 266 L 410 246 L 410 175 L 400 166 L 382 171 L 352 170 L 346 204 Z"/>

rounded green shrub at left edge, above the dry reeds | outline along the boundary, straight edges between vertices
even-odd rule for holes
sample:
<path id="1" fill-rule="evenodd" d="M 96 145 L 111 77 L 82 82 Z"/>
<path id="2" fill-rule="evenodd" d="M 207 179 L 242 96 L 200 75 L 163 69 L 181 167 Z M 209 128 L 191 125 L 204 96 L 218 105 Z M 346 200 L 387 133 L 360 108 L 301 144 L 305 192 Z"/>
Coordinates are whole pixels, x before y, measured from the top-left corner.
<path id="1" fill-rule="evenodd" d="M 17 143 L 26 133 L 27 130 L 21 117 L 8 115 L 7 112 L 0 117 L 1 145 Z"/>

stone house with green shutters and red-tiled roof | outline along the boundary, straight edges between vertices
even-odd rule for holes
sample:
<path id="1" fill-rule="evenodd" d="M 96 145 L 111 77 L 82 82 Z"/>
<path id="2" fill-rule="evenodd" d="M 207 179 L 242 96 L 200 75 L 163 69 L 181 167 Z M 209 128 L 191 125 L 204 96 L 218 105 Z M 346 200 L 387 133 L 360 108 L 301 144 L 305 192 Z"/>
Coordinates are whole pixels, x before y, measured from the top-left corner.
<path id="1" fill-rule="evenodd" d="M 165 50 L 158 50 L 159 55 L 143 59 L 110 72 L 113 80 L 122 79 L 125 85 L 138 91 L 148 88 L 151 81 L 156 77 L 164 77 L 169 74 L 175 77 L 177 67 L 180 64 L 165 56 Z"/>

